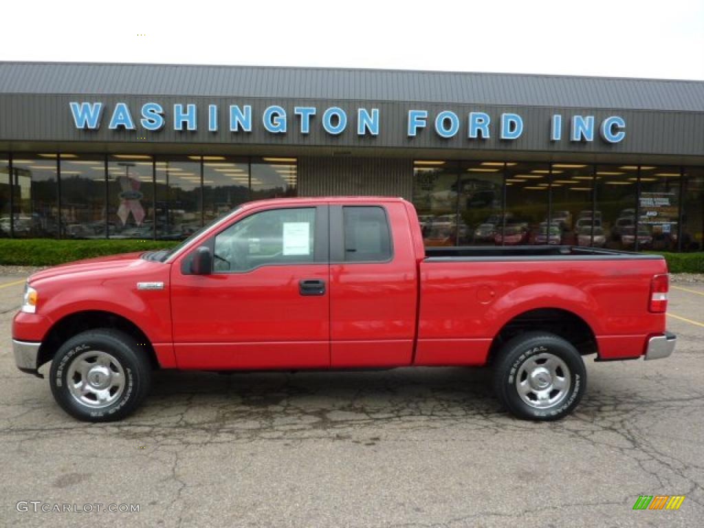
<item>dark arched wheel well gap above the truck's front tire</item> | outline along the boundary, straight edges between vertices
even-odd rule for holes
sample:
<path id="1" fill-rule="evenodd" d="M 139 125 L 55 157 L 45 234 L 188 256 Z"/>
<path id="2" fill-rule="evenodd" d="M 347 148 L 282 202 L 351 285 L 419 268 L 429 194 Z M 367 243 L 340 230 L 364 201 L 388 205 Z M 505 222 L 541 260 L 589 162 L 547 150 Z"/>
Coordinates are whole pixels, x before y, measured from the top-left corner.
<path id="1" fill-rule="evenodd" d="M 39 348 L 37 367 L 51 361 L 56 351 L 58 351 L 58 348 L 71 337 L 80 334 L 80 332 L 98 328 L 112 328 L 120 330 L 120 332 L 125 332 L 125 334 L 131 336 L 134 341 L 137 341 L 138 344 L 144 346 L 144 349 L 149 354 L 151 366 L 153 368 L 159 367 L 159 363 L 156 360 L 156 353 L 154 352 L 153 346 L 151 346 L 151 342 L 134 322 L 115 313 L 97 310 L 72 313 L 58 320 L 58 322 L 51 327 L 49 333 L 46 334 L 46 338 L 42 340 L 42 346 Z"/>

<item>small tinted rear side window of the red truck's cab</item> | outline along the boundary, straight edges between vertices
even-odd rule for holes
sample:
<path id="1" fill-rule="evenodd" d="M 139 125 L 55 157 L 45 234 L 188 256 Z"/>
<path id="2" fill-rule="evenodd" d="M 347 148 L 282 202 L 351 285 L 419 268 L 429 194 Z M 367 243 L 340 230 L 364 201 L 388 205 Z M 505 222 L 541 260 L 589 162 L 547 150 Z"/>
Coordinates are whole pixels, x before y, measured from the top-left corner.
<path id="1" fill-rule="evenodd" d="M 342 208 L 344 259 L 347 262 L 386 262 L 391 259 L 391 232 L 381 207 Z"/>

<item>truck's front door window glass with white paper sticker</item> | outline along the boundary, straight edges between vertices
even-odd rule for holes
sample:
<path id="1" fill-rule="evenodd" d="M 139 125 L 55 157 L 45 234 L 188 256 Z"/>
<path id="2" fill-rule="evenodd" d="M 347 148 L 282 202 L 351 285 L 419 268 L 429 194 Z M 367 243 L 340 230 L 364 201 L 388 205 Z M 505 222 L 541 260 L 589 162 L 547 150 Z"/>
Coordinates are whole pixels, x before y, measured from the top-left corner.
<path id="1" fill-rule="evenodd" d="M 215 273 L 263 265 L 313 263 L 315 208 L 254 213 L 215 236 Z"/>

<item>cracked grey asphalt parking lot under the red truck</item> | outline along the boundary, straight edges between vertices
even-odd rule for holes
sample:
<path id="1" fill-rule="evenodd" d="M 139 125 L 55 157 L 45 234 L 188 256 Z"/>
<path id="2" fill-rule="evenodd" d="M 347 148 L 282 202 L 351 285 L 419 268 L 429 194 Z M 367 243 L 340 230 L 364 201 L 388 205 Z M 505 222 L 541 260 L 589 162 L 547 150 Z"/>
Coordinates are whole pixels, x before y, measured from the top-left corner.
<path id="1" fill-rule="evenodd" d="M 691 527 L 704 516 L 703 282 L 671 290 L 671 358 L 588 358 L 587 394 L 562 422 L 509 417 L 488 372 L 423 368 L 159 372 L 135 415 L 87 425 L 15 368 L 21 279 L 0 277 L 0 524 Z M 686 499 L 634 511 L 639 495 Z"/>

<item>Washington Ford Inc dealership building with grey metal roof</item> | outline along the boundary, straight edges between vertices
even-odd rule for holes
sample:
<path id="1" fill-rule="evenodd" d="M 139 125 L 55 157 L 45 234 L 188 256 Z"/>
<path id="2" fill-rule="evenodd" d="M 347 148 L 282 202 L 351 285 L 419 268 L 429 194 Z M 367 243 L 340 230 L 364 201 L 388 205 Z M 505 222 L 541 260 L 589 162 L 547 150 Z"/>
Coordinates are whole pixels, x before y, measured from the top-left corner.
<path id="1" fill-rule="evenodd" d="M 0 63 L 0 237 L 182 239 L 328 195 L 403 196 L 430 246 L 701 251 L 704 82 Z"/>

